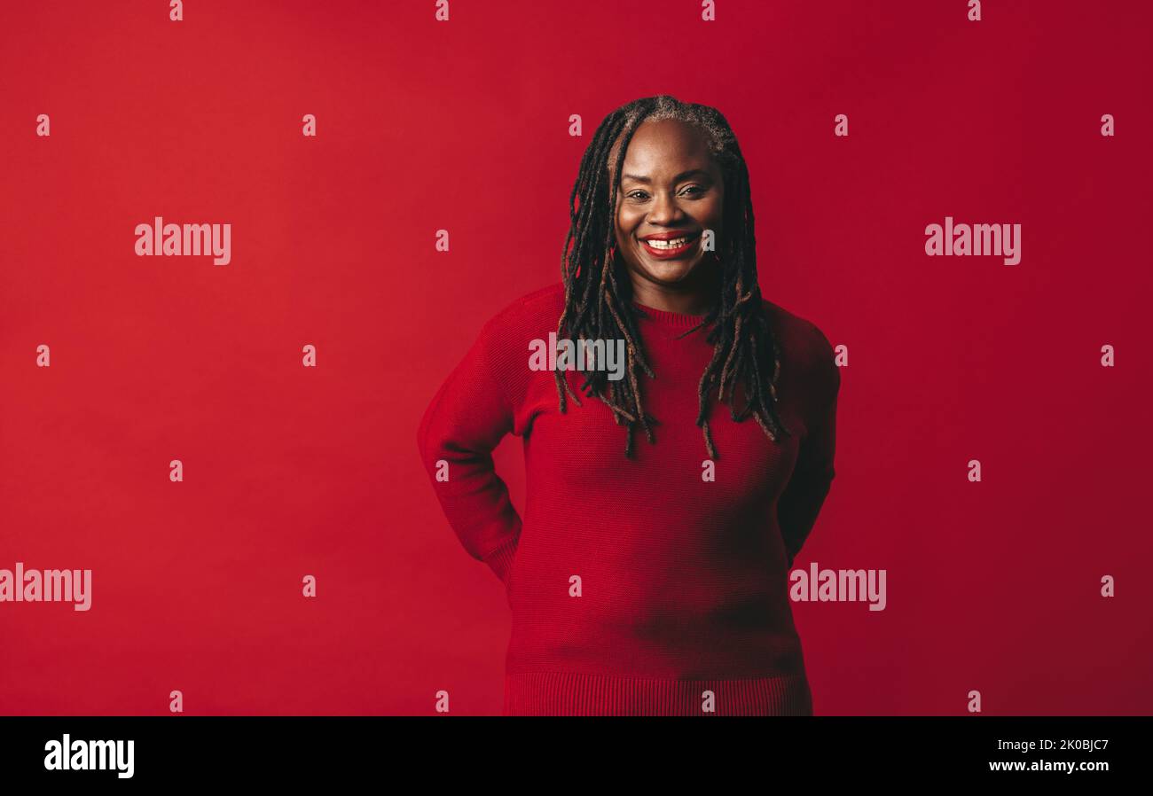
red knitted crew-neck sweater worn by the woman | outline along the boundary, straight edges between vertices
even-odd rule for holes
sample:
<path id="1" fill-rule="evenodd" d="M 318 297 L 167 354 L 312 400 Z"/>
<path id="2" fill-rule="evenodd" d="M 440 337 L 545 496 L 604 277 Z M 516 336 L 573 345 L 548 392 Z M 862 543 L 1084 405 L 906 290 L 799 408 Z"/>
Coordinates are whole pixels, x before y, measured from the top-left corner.
<path id="1" fill-rule="evenodd" d="M 567 377 L 583 405 L 570 399 L 562 415 L 552 371 L 529 367 L 530 342 L 556 333 L 562 285 L 489 320 L 432 399 L 424 468 L 512 608 L 505 715 L 812 712 L 789 569 L 834 478 L 841 373 L 816 326 L 764 305 L 782 348 L 777 407 L 794 435 L 773 444 L 714 394 L 715 480 L 702 478 L 695 424 L 713 347 L 704 328 L 675 339 L 695 316 L 636 305 L 656 373 L 640 374 L 642 401 L 658 424 L 655 445 L 634 430 L 632 460 L 625 426 L 580 392 L 580 372 Z M 490 456 L 510 432 L 523 439 L 523 517 Z"/>

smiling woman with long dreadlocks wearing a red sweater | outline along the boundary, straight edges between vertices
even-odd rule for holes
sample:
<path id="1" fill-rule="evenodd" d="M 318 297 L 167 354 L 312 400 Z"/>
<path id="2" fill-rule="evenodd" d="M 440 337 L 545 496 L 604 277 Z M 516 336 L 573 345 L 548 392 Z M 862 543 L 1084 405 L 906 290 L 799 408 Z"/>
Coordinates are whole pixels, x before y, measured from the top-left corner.
<path id="1" fill-rule="evenodd" d="M 841 378 L 820 329 L 761 298 L 732 130 L 630 103 L 571 210 L 564 281 L 489 320 L 419 432 L 450 524 L 506 586 L 504 712 L 809 714 L 787 575 L 834 478 Z M 578 371 L 564 340 L 603 344 Z M 506 433 L 523 520 L 490 456 Z"/>

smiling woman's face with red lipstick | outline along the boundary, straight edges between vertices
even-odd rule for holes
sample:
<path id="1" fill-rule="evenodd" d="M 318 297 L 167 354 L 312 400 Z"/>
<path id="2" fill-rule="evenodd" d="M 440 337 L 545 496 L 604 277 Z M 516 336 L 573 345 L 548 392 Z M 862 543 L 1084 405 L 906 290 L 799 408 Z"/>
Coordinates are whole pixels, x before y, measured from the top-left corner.
<path id="1" fill-rule="evenodd" d="M 617 152 L 619 139 L 613 157 Z M 668 119 L 636 128 L 616 212 L 617 249 L 634 286 L 661 291 L 703 286 L 716 260 L 702 251 L 701 233 L 711 229 L 719 240 L 723 199 L 723 176 L 703 132 Z"/>

